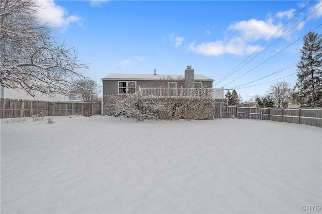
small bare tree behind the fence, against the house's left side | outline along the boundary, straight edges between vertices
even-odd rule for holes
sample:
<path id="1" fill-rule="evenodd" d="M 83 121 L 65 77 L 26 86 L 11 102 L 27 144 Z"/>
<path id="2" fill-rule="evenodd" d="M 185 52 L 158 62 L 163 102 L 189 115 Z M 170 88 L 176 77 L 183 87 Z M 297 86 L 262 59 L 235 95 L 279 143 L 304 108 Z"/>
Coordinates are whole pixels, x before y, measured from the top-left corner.
<path id="1" fill-rule="evenodd" d="M 90 78 L 77 79 L 72 82 L 70 90 L 71 99 L 81 99 L 84 102 L 101 101 L 99 94 L 101 86 Z"/>

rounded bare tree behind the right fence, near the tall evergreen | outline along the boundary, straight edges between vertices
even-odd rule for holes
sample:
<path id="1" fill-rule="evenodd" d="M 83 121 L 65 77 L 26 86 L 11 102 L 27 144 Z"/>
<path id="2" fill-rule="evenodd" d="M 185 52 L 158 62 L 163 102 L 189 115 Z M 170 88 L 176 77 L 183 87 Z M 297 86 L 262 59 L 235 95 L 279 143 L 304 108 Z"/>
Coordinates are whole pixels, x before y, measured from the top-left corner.
<path id="1" fill-rule="evenodd" d="M 287 82 L 276 81 L 270 86 L 268 94 L 275 100 L 277 107 L 281 108 L 282 103 L 291 96 L 291 87 Z"/>

